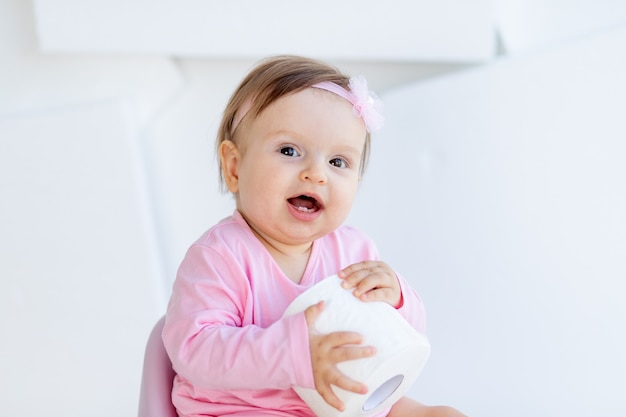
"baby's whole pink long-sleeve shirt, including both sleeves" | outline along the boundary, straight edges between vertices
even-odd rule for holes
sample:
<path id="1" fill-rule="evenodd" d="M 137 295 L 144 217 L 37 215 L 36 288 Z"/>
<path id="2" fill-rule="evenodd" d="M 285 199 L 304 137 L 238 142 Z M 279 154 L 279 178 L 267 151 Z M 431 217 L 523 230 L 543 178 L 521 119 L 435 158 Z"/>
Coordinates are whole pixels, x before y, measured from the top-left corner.
<path id="1" fill-rule="evenodd" d="M 296 284 L 239 212 L 208 230 L 180 265 L 163 331 L 179 414 L 313 417 L 291 389 L 314 388 L 306 320 L 304 313 L 282 318 L 283 312 L 320 280 L 377 259 L 369 238 L 342 226 L 313 242 Z M 398 311 L 423 332 L 422 302 L 398 280 L 404 300 Z"/>

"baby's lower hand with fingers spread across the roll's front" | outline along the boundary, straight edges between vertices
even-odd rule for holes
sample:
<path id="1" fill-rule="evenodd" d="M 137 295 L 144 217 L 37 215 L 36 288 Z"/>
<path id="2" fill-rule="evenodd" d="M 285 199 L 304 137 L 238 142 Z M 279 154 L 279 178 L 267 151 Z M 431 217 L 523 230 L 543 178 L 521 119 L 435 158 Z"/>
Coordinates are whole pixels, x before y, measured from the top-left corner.
<path id="1" fill-rule="evenodd" d="M 324 302 L 320 301 L 304 310 L 309 327 L 313 380 L 315 389 L 324 401 L 337 410 L 344 411 L 344 404 L 335 395 L 331 385 L 358 394 L 367 393 L 367 386 L 342 374 L 337 369 L 337 363 L 373 356 L 376 349 L 372 346 L 362 346 L 363 336 L 355 332 L 317 333 L 314 324 L 323 309 Z"/>

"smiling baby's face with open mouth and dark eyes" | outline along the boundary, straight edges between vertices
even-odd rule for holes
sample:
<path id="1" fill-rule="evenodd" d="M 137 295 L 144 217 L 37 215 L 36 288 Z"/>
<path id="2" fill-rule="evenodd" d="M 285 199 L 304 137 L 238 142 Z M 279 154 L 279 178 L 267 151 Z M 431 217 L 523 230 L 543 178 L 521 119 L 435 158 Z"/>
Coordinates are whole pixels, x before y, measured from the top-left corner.
<path id="1" fill-rule="evenodd" d="M 305 245 L 340 226 L 359 183 L 366 130 L 352 104 L 316 88 L 283 97 L 242 131 L 237 208 L 270 244 Z"/>

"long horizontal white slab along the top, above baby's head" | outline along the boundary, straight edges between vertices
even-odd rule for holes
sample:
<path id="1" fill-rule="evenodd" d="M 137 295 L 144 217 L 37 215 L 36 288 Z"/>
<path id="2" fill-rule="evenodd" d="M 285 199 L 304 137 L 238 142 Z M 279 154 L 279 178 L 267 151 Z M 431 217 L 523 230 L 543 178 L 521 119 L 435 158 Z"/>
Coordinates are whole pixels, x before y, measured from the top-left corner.
<path id="1" fill-rule="evenodd" d="M 494 52 L 487 0 L 36 0 L 35 6 L 41 45 L 51 52 L 461 62 Z"/>

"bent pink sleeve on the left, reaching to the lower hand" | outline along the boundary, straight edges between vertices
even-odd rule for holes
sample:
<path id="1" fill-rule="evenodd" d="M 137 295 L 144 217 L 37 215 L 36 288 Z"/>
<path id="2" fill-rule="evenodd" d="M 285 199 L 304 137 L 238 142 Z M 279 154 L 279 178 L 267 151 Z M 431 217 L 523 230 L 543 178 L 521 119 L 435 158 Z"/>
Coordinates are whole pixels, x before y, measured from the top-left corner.
<path id="1" fill-rule="evenodd" d="M 304 313 L 263 328 L 252 324 L 252 307 L 241 266 L 193 245 L 179 268 L 163 331 L 176 373 L 204 389 L 312 388 Z"/>

